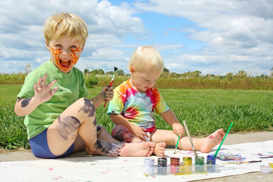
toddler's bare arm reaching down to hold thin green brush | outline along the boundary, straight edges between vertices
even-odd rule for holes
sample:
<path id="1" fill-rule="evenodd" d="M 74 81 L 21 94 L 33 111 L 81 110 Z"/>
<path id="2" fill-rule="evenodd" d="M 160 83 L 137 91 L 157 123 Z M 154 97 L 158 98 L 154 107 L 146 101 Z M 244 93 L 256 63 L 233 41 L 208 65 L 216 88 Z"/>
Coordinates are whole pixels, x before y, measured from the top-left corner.
<path id="1" fill-rule="evenodd" d="M 166 112 L 160 113 L 160 115 L 167 123 L 172 126 L 174 133 L 178 133 L 180 138 L 182 138 L 183 134 L 185 133 L 185 128 L 180 124 L 171 109 Z"/>

